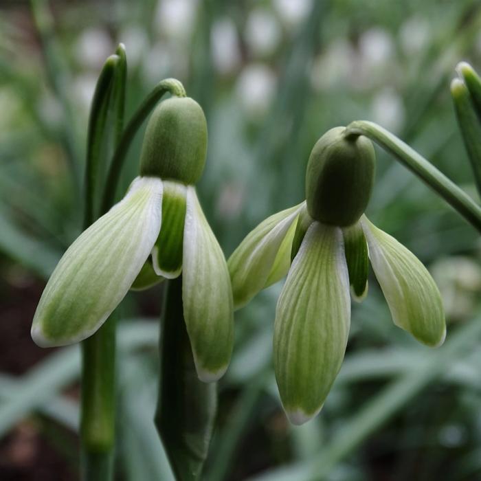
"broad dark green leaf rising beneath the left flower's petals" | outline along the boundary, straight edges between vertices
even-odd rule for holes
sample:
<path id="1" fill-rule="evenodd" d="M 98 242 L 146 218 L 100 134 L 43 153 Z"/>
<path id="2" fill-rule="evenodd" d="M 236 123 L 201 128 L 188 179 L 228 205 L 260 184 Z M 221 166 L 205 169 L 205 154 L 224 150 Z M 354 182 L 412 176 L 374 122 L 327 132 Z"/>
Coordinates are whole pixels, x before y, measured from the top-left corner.
<path id="1" fill-rule="evenodd" d="M 167 283 L 166 283 L 167 284 Z M 168 281 L 155 425 L 177 480 L 198 480 L 216 416 L 216 383 L 199 381 L 183 319 L 182 279 Z"/>

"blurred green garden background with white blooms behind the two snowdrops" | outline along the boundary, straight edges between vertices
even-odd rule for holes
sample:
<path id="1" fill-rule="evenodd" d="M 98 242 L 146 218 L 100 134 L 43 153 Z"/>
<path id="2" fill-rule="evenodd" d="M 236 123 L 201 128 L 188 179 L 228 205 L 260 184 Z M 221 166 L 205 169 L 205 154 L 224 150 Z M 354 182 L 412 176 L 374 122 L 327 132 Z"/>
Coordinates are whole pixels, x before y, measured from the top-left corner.
<path id="1" fill-rule="evenodd" d="M 89 105 L 126 45 L 126 118 L 162 78 L 205 110 L 199 196 L 226 256 L 266 216 L 304 199 L 328 128 L 378 122 L 475 196 L 449 80 L 481 68 L 478 1 L 23 1 L 0 3 L 0 478 L 75 480 L 78 347 L 41 350 L 30 323 L 80 232 Z M 137 174 L 142 134 L 119 196 Z M 368 216 L 434 274 L 448 335 L 430 350 L 396 328 L 374 278 L 320 416 L 287 422 L 271 360 L 282 282 L 236 313 L 205 480 L 480 480 L 480 243 L 379 149 Z M 170 480 L 151 422 L 162 291 L 129 293 L 118 340 L 119 480 Z"/>

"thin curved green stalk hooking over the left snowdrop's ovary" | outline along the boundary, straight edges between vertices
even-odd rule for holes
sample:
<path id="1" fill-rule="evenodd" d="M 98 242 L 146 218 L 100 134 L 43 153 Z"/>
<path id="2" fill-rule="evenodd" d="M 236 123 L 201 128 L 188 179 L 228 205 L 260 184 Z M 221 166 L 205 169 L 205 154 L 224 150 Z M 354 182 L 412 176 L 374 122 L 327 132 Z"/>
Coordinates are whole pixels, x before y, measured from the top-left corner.
<path id="1" fill-rule="evenodd" d="M 154 87 L 153 91 L 148 94 L 144 102 L 142 102 L 142 105 L 134 113 L 122 133 L 122 137 L 120 137 L 111 165 L 109 166 L 109 173 L 107 174 L 107 183 L 105 184 L 104 198 L 102 201 L 102 210 L 104 212 L 109 210 L 115 200 L 115 190 L 117 189 L 120 172 L 135 133 L 137 133 L 139 127 L 144 120 L 146 120 L 150 111 L 152 111 L 165 93 L 171 93 L 177 97 L 186 96 L 186 91 L 179 80 L 175 80 L 175 78 L 166 78 L 165 80 L 161 80 L 161 82 Z"/>

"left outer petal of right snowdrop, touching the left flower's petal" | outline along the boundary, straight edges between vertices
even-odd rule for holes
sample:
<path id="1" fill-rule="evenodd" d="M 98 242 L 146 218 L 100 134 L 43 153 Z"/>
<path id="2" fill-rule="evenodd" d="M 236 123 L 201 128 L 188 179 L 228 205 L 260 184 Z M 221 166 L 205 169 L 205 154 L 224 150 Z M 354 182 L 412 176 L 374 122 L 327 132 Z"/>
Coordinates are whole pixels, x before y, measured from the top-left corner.
<path id="1" fill-rule="evenodd" d="M 290 255 L 290 250 L 281 251 L 282 241 L 290 232 L 289 229 L 295 223 L 304 204 L 282 210 L 262 221 L 247 234 L 230 256 L 227 265 L 236 309 L 247 304 L 254 295 L 266 287 L 268 281 L 276 282 L 286 275 L 290 265 L 286 256 L 288 252 Z M 287 248 L 289 243 L 292 243 L 293 234 L 291 231 L 284 247 Z M 281 254 L 276 262 L 279 251 Z"/>

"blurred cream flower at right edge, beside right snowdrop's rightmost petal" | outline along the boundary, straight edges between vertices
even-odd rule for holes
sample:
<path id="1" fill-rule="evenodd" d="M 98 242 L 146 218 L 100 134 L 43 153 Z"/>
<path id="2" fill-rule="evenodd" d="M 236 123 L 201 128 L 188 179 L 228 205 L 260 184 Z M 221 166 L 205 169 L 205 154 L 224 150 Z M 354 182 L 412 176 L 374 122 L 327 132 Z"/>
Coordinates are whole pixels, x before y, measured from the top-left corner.
<path id="1" fill-rule="evenodd" d="M 473 314 L 481 290 L 481 267 L 465 256 L 452 256 L 437 260 L 431 267 L 438 284 L 446 315 L 460 320 Z"/>

